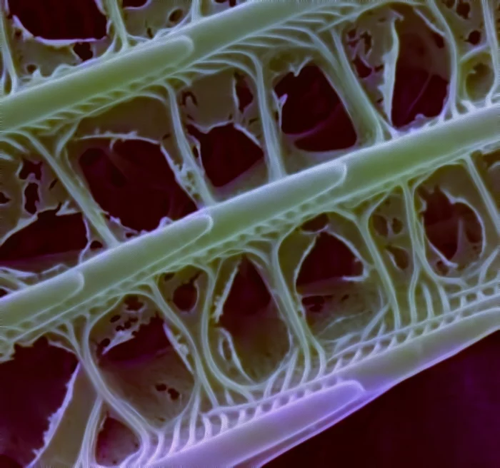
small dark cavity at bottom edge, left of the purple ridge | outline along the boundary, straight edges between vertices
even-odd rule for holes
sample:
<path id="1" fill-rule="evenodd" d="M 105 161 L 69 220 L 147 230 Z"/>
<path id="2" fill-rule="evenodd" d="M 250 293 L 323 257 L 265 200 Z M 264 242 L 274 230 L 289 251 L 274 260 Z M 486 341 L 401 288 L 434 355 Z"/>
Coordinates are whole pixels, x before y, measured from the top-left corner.
<path id="1" fill-rule="evenodd" d="M 116 467 L 139 449 L 139 439 L 132 430 L 109 414 L 104 418 L 96 439 L 96 462 Z"/>

